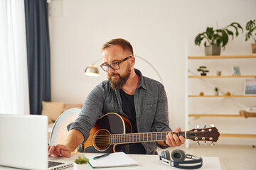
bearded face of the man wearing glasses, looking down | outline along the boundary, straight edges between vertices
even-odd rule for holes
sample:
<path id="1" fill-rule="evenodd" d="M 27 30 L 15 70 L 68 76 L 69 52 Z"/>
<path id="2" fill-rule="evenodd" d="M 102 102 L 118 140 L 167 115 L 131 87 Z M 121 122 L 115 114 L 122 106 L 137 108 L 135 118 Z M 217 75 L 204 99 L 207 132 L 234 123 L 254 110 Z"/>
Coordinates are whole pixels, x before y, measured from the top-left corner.
<path id="1" fill-rule="evenodd" d="M 112 45 L 104 50 L 103 61 L 104 64 L 112 64 L 114 62 L 119 62 L 130 55 L 132 55 L 131 52 L 125 52 L 119 45 Z M 112 89 L 121 89 L 131 74 L 131 64 L 129 59 L 119 63 L 119 69 L 117 70 L 109 67 L 109 71 L 106 73 Z"/>

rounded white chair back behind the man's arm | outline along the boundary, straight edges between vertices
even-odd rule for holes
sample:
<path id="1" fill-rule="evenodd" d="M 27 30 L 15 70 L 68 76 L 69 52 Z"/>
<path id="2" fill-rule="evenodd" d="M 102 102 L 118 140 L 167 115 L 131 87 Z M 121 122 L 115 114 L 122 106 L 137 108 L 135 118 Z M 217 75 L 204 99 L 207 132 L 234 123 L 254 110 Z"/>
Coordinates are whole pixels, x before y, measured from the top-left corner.
<path id="1" fill-rule="evenodd" d="M 80 108 L 71 108 L 58 117 L 50 132 L 50 146 L 64 143 L 65 137 L 68 135 L 68 124 L 73 123 L 80 112 Z"/>

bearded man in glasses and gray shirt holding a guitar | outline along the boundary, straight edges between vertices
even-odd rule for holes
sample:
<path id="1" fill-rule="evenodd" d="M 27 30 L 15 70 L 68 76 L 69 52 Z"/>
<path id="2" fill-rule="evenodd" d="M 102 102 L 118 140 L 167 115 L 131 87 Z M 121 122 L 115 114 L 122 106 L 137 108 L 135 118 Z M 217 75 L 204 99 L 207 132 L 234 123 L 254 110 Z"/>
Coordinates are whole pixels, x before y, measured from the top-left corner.
<path id="1" fill-rule="evenodd" d="M 107 79 L 92 89 L 74 123 L 68 125 L 68 135 L 64 145 L 49 146 L 49 156 L 70 157 L 71 152 L 86 142 L 90 130 L 98 118 L 107 113 L 117 113 L 127 118 L 132 132 L 169 132 L 166 140 L 158 142 L 136 142 L 123 148 L 128 154 L 157 154 L 160 147 L 180 146 L 183 136 L 172 134 L 169 128 L 167 96 L 164 86 L 153 79 L 142 76 L 134 69 L 135 57 L 132 45 L 117 38 L 102 47 L 103 63 L 100 67 Z M 174 132 L 181 132 L 176 128 Z M 85 152 L 97 152 L 87 147 Z"/>

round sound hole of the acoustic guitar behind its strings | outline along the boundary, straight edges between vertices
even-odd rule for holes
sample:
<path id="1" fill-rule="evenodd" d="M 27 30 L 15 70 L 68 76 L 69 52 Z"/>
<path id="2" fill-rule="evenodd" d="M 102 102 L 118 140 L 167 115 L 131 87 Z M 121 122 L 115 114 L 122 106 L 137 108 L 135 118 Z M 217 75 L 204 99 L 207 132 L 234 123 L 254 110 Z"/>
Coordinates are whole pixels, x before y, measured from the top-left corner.
<path id="1" fill-rule="evenodd" d="M 95 133 L 93 142 L 97 150 L 105 150 L 110 146 L 110 133 L 107 130 L 100 130 Z"/>

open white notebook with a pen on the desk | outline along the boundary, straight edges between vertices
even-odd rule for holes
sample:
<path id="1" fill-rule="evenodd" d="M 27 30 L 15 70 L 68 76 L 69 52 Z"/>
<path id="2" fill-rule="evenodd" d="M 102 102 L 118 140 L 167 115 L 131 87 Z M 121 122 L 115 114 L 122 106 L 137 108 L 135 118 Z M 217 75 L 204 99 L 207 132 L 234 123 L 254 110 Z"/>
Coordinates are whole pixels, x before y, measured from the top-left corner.
<path id="1" fill-rule="evenodd" d="M 138 162 L 136 162 L 124 152 L 116 152 L 108 155 L 107 157 L 93 159 L 97 156 L 99 156 L 99 154 L 85 154 L 85 157 L 89 159 L 89 164 L 92 166 L 92 168 L 138 165 Z"/>

